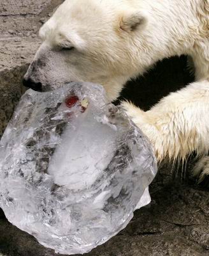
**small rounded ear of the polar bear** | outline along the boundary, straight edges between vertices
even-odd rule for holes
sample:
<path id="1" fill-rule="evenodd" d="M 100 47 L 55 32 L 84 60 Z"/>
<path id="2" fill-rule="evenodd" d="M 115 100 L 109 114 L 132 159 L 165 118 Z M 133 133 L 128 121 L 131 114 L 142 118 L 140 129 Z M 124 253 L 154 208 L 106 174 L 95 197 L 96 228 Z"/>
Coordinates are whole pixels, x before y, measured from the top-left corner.
<path id="1" fill-rule="evenodd" d="M 143 13 L 125 13 L 120 20 L 120 29 L 131 32 L 143 28 L 146 24 L 147 17 Z"/>

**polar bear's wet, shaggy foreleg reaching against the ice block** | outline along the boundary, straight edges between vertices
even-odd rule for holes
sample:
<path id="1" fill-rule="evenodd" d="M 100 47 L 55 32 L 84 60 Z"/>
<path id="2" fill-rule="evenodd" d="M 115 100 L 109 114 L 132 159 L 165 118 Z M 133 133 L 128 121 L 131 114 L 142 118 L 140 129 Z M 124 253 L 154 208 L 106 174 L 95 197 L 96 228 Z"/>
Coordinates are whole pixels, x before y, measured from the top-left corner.
<path id="1" fill-rule="evenodd" d="M 164 97 L 149 111 L 122 102 L 122 108 L 151 141 L 158 161 L 184 161 L 192 152 L 206 156 L 209 150 L 209 81 L 189 84 Z M 204 164 L 201 164 L 203 163 Z M 209 175 L 209 157 L 197 164 L 194 175 Z"/>

